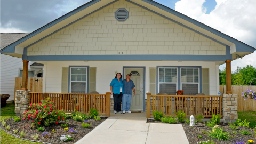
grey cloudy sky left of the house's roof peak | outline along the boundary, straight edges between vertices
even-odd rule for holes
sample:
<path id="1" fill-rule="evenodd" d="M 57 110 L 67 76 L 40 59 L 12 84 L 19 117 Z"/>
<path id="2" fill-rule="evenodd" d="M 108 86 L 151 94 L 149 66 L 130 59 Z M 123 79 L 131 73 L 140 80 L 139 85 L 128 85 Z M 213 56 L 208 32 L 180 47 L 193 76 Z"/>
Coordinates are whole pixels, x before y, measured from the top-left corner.
<path id="1" fill-rule="evenodd" d="M 19 30 L 32 32 L 89 1 L 1 1 L 1 30 L 7 33 L 17 33 Z"/>

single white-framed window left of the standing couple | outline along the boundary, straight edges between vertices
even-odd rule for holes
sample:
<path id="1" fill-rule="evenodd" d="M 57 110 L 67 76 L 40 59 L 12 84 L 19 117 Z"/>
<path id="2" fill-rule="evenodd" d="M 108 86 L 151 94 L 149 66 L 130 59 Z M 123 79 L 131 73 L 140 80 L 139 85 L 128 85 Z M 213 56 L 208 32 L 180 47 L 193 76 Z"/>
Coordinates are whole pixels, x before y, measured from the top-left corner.
<path id="1" fill-rule="evenodd" d="M 86 93 L 87 89 L 87 67 L 70 67 L 71 93 Z"/>

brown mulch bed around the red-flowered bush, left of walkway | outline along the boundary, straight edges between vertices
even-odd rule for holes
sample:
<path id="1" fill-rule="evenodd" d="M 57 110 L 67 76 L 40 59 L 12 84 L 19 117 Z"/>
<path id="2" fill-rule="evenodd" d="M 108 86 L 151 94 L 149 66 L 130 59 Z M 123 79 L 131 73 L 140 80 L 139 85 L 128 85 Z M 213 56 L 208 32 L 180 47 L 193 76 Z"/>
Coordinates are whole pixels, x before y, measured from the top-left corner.
<path id="1" fill-rule="evenodd" d="M 22 137 L 24 139 L 33 140 L 33 138 L 31 136 L 34 134 L 39 134 L 39 137 L 36 141 L 52 143 L 52 144 L 53 143 L 75 143 L 78 140 L 80 140 L 81 138 L 83 138 L 87 133 L 91 132 L 95 127 L 97 127 L 102 122 L 104 122 L 106 119 L 107 119 L 107 117 L 102 117 L 99 121 L 95 121 L 95 119 L 91 118 L 91 119 L 89 119 L 89 123 L 92 124 L 92 126 L 90 128 L 84 128 L 84 127 L 82 127 L 82 121 L 74 121 L 74 119 L 69 118 L 68 119 L 68 121 L 69 121 L 68 128 L 74 127 L 77 130 L 77 133 L 70 134 L 70 133 L 68 133 L 68 131 L 65 131 L 64 128 L 61 127 L 61 124 L 66 124 L 66 122 L 61 121 L 58 125 L 44 127 L 44 130 L 45 130 L 44 132 L 50 133 L 50 138 L 47 138 L 47 139 L 42 137 L 41 134 L 43 132 L 38 132 L 38 131 L 36 131 L 36 128 L 33 129 L 31 127 L 31 120 L 29 120 L 29 121 L 21 120 L 18 122 L 14 122 L 14 119 L 10 118 L 10 119 L 6 120 L 6 126 L 10 125 L 11 129 L 6 130 L 5 127 L 2 127 L 2 128 L 12 134 L 14 134 L 13 130 L 15 130 L 15 129 L 19 129 L 19 131 L 25 130 L 25 131 L 27 131 L 27 133 L 26 133 L 26 137 Z M 56 133 L 52 132 L 53 129 L 56 131 Z M 16 133 L 15 135 L 20 137 L 19 132 Z M 70 135 L 71 138 L 73 138 L 74 140 L 68 141 L 68 142 L 61 142 L 61 141 L 59 141 L 61 135 Z"/>

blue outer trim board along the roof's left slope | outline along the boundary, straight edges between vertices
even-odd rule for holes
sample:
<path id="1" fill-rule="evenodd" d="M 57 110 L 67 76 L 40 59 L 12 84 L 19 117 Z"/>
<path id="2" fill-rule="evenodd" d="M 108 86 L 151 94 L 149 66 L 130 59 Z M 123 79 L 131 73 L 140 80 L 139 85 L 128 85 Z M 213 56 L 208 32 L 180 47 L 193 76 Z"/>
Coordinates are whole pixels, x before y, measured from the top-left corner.
<path id="1" fill-rule="evenodd" d="M 56 19 L 56 20 L 54 20 L 54 21 L 52 21 L 52 22 L 46 24 L 45 26 L 43 26 L 43 27 L 41 27 L 41 28 L 39 28 L 39 29 L 33 31 L 33 32 L 30 33 L 29 35 L 27 35 L 27 36 L 25 36 L 25 37 L 19 39 L 18 41 L 12 43 L 11 45 L 6 46 L 4 49 L 1 50 L 1 53 L 9 53 L 9 52 L 6 52 L 8 49 L 14 49 L 14 50 L 15 50 L 15 46 L 16 46 L 16 45 L 18 45 L 18 44 L 20 44 L 20 43 L 26 41 L 27 39 L 29 39 L 29 38 L 31 38 L 31 37 L 37 35 L 38 33 L 41 33 L 41 32 L 44 31 L 45 29 L 52 27 L 53 25 L 59 23 L 60 21 L 67 19 L 67 18 L 70 17 L 71 15 L 76 14 L 77 12 L 86 9 L 87 7 L 89 7 L 89 6 L 91 6 L 91 5 L 95 4 L 95 3 L 97 3 L 97 2 L 99 2 L 99 1 L 101 1 L 101 0 L 92 0 L 92 1 L 90 1 L 90 2 L 88 2 L 88 3 L 86 3 L 86 4 L 84 4 L 84 5 L 82 5 L 82 6 L 80 6 L 80 7 L 78 7 L 77 9 L 75 9 L 75 10 L 73 10 L 73 11 L 71 11 L 71 12 L 69 12 L 69 13 L 63 15 L 62 17 L 60 17 L 60 18 L 58 18 L 58 19 Z M 55 31 L 54 31 L 53 33 L 55 33 Z M 50 34 L 50 35 L 51 35 L 51 34 Z M 49 36 L 49 35 L 48 35 L 48 36 Z M 47 37 L 47 36 L 46 36 L 46 37 Z M 45 37 L 44 37 L 44 38 L 45 38 Z M 42 40 L 42 39 L 41 39 L 41 40 Z M 14 52 L 13 52 L 13 53 L 14 53 Z"/>

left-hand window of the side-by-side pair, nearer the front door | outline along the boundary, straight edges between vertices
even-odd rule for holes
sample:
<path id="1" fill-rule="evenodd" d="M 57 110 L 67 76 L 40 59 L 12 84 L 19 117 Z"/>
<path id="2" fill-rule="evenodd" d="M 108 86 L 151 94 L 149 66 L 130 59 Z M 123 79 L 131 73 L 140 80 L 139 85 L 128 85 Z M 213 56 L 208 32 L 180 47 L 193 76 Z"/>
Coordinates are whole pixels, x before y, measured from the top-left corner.
<path id="1" fill-rule="evenodd" d="M 161 93 L 175 95 L 177 91 L 177 68 L 159 68 L 158 90 Z"/>

